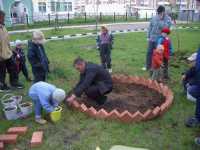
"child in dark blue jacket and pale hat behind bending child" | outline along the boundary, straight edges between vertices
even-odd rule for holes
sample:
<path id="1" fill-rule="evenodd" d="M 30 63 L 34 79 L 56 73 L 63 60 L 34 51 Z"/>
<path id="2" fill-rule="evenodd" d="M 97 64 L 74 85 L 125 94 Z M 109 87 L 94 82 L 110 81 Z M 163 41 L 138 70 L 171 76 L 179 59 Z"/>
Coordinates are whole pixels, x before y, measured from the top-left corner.
<path id="1" fill-rule="evenodd" d="M 32 66 L 34 83 L 46 81 L 49 72 L 49 60 L 43 46 L 44 42 L 44 34 L 41 31 L 35 31 L 32 41 L 28 44 L 28 60 Z"/>

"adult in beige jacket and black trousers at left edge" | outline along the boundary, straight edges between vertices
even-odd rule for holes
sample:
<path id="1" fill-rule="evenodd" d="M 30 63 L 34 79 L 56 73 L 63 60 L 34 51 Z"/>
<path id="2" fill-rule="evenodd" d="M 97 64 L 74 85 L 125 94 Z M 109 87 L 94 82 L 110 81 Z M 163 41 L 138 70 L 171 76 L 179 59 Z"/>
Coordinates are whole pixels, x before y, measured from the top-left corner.
<path id="1" fill-rule="evenodd" d="M 22 89 L 18 82 L 16 65 L 12 59 L 12 50 L 9 44 L 9 35 L 4 26 L 5 13 L 0 10 L 0 91 L 6 92 L 10 88 L 5 83 L 6 72 L 10 76 L 10 85 L 13 88 Z"/>

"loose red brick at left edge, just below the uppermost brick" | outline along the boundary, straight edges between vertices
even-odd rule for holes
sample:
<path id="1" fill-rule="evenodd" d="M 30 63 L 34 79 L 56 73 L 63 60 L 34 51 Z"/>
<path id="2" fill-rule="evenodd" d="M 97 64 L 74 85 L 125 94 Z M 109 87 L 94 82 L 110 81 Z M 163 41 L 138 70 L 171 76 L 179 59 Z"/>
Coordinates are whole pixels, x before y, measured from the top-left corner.
<path id="1" fill-rule="evenodd" d="M 4 144 L 16 144 L 17 137 L 17 134 L 1 134 L 0 142 L 3 142 Z"/>

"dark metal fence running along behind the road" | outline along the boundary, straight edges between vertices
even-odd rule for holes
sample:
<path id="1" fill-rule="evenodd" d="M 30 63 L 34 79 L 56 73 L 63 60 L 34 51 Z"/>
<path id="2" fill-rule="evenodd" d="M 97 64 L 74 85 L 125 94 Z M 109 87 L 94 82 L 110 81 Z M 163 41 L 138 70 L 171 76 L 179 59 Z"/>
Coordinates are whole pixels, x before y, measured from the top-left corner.
<path id="1" fill-rule="evenodd" d="M 173 19 L 181 21 L 200 21 L 200 12 L 193 10 L 179 11 L 170 14 Z M 82 24 L 82 23 L 103 23 L 103 22 L 125 22 L 125 21 L 148 21 L 153 13 L 143 14 L 141 18 L 140 14 L 134 13 L 63 13 L 63 14 L 33 14 L 32 16 L 23 17 L 7 17 L 6 21 L 11 26 L 25 25 L 25 26 L 63 26 L 67 24 Z"/>

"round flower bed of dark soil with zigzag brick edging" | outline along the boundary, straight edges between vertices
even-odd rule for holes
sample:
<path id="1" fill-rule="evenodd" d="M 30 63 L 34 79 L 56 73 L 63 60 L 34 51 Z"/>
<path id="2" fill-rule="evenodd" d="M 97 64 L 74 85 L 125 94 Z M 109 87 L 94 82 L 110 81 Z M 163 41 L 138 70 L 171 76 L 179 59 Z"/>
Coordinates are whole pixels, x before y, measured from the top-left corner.
<path id="1" fill-rule="evenodd" d="M 145 79 L 142 77 L 137 77 L 137 76 L 134 77 L 126 75 L 113 75 L 112 79 L 114 84 L 113 91 L 115 92 L 115 96 L 113 95 L 113 93 L 109 94 L 108 100 L 112 99 L 113 97 L 118 97 L 118 101 L 110 103 L 111 105 L 105 104 L 103 106 L 97 106 L 95 104 L 88 103 L 87 100 L 81 98 L 80 100 L 73 101 L 72 107 L 94 118 L 119 120 L 122 122 L 139 122 L 139 121 L 147 121 L 164 114 L 168 110 L 168 108 L 172 105 L 173 93 L 167 86 L 163 85 L 162 83 L 158 83 L 156 81 L 152 81 L 150 79 Z M 121 88 L 119 88 L 120 85 Z M 140 94 L 140 92 L 136 92 L 135 97 L 133 97 L 134 91 L 137 91 L 139 89 L 141 91 L 144 90 L 145 88 L 147 91 L 142 92 L 142 94 Z M 121 100 L 119 98 L 121 97 L 120 96 L 121 89 L 126 89 L 126 90 L 128 89 L 129 92 L 126 93 L 127 95 L 126 99 Z M 140 99 L 141 95 L 143 95 L 143 97 L 146 97 L 146 99 L 145 98 Z M 150 98 L 147 97 L 148 95 Z M 156 95 L 159 100 L 155 99 Z M 130 103 L 131 98 L 133 99 L 133 101 L 137 102 L 137 105 L 139 105 L 137 107 L 134 107 L 133 110 L 131 110 L 131 107 L 133 106 L 133 104 Z M 121 104 L 123 102 L 127 103 L 126 100 L 128 101 L 128 104 L 122 107 L 124 110 L 122 110 L 121 108 L 119 109 L 117 103 L 121 107 Z M 147 104 L 144 105 L 140 101 Z M 131 107 L 130 106 L 128 107 L 129 104 L 131 105 Z M 145 107 L 143 107 L 143 105 Z M 113 106 L 116 106 L 116 108 Z M 138 108 L 138 110 L 136 110 L 136 108 Z"/>

